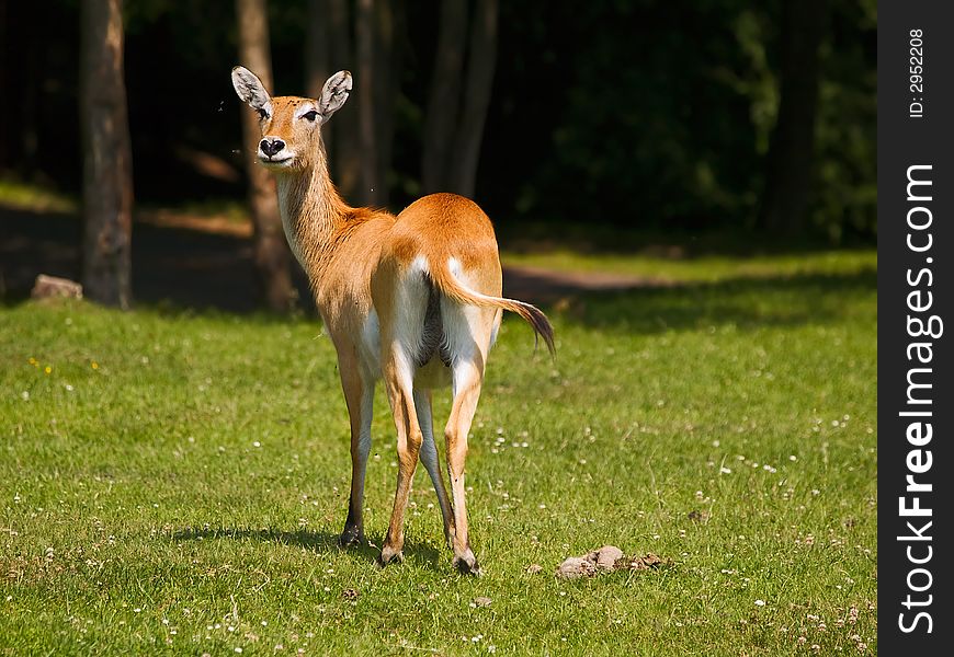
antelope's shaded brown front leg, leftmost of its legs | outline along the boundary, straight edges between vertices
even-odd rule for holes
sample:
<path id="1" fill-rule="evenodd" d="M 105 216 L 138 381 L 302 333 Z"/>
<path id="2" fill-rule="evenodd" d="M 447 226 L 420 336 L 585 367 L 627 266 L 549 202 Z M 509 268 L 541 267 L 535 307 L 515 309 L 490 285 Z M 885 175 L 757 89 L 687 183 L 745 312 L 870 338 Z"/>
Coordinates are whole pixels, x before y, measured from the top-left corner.
<path id="1" fill-rule="evenodd" d="M 364 382 L 353 362 L 339 358 L 344 401 L 351 418 L 351 496 L 348 519 L 339 543 L 342 548 L 364 542 L 364 475 L 371 452 L 371 419 L 374 406 L 374 382 Z"/>

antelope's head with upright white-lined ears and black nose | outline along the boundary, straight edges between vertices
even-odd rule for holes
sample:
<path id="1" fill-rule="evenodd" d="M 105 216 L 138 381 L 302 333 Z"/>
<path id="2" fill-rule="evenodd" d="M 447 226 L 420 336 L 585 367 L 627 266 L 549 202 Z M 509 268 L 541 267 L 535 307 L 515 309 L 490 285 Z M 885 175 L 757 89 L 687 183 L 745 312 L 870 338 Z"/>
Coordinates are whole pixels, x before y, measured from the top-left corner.
<path id="1" fill-rule="evenodd" d="M 239 99 L 258 112 L 262 139 L 258 157 L 272 171 L 302 170 L 314 165 L 321 126 L 348 100 L 351 73 L 338 71 L 325 82 L 320 99 L 272 97 L 262 81 L 247 68 L 231 70 Z"/>

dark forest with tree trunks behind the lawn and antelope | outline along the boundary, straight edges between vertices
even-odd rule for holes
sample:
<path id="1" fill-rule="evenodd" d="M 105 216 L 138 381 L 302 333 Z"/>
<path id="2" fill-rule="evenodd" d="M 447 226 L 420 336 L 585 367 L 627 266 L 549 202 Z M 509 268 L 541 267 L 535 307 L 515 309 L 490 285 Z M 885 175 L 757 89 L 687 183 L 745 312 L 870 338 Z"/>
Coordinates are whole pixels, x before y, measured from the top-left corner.
<path id="1" fill-rule="evenodd" d="M 876 26 L 875 0 L 0 0 L 0 186 L 81 199 L 81 283 L 121 307 L 144 209 L 250 219 L 288 310 L 229 71 L 316 96 L 349 69 L 322 135 L 352 205 L 455 192 L 507 240 L 622 252 L 871 244 Z"/>

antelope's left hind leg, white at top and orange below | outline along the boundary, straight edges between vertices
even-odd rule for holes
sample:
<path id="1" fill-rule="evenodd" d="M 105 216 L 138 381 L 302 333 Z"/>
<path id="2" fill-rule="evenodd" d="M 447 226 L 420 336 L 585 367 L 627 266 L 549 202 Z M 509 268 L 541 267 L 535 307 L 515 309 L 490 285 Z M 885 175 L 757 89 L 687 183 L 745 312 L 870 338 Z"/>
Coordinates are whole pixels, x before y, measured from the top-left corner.
<path id="1" fill-rule="evenodd" d="M 399 351 L 399 350 L 397 350 Z M 386 566 L 393 561 L 404 561 L 405 545 L 405 511 L 411 482 L 414 479 L 418 458 L 421 452 L 423 435 L 418 424 L 414 410 L 413 383 L 410 376 L 409 360 L 402 354 L 396 353 L 390 364 L 385 368 L 387 395 L 394 413 L 397 429 L 398 482 L 394 496 L 394 511 L 387 529 L 387 537 L 381 549 L 379 564 Z"/>

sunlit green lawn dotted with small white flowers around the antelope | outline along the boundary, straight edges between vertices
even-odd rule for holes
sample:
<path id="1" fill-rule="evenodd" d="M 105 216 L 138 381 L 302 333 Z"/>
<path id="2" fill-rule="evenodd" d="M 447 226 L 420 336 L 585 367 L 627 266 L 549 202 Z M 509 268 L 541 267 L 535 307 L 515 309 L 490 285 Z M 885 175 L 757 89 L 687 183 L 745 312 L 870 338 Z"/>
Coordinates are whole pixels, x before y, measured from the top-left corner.
<path id="1" fill-rule="evenodd" d="M 0 654 L 876 654 L 876 256 L 790 260 L 560 303 L 555 361 L 504 321 L 467 462 L 481 578 L 420 471 L 405 564 L 336 546 L 316 323 L 0 307 Z M 668 565 L 554 577 L 606 543 Z"/>

